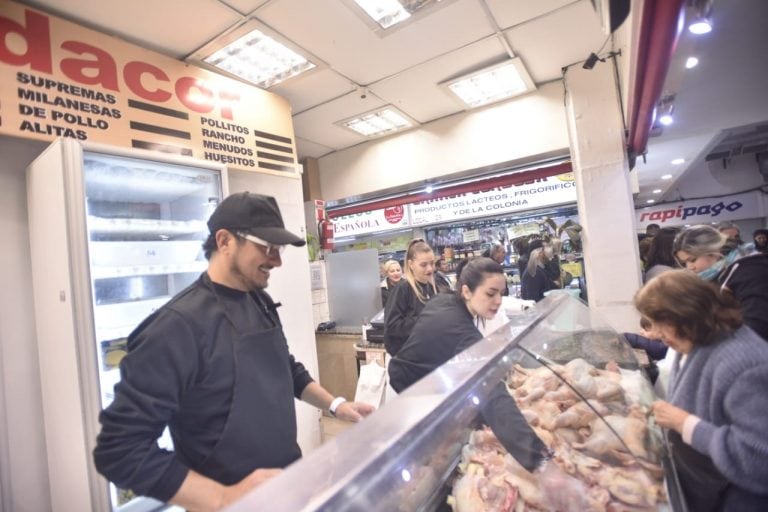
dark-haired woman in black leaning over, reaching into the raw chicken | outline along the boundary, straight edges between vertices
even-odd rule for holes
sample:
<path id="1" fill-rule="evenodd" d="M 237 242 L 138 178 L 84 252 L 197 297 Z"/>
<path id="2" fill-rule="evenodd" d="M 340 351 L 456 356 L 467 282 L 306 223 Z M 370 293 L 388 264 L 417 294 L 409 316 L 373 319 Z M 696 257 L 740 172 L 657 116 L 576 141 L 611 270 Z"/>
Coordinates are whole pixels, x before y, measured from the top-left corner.
<path id="1" fill-rule="evenodd" d="M 416 320 L 405 345 L 389 364 L 389 381 L 401 393 L 449 359 L 482 339 L 478 325 L 493 318 L 506 286 L 504 269 L 496 261 L 479 257 L 465 264 L 457 276 L 456 291 L 430 300 Z M 481 414 L 504 448 L 528 471 L 539 476 L 546 495 L 583 510 L 586 491 L 554 462 L 551 452 L 520 413 L 514 398 L 499 382 L 483 401 Z"/>

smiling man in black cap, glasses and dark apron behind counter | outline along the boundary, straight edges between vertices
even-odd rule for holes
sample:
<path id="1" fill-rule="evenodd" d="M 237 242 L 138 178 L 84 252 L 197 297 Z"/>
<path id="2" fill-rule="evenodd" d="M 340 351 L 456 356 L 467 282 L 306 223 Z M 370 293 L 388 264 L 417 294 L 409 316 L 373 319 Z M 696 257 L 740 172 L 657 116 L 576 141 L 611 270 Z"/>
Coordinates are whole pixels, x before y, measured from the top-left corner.
<path id="1" fill-rule="evenodd" d="M 334 398 L 288 351 L 264 291 L 286 245 L 274 198 L 227 197 L 208 221 L 208 270 L 128 338 L 96 467 L 118 487 L 218 510 L 301 457 L 294 398 L 348 421 L 372 412 Z M 157 439 L 168 427 L 174 451 Z"/>

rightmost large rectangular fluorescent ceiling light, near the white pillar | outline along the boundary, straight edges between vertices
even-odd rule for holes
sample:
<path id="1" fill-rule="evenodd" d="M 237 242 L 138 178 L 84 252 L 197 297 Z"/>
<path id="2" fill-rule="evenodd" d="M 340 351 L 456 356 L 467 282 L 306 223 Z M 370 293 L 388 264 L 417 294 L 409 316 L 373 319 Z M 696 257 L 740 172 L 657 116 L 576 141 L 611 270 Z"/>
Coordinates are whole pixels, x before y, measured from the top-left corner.
<path id="1" fill-rule="evenodd" d="M 536 86 L 519 57 L 440 84 L 470 108 L 505 100 Z"/>

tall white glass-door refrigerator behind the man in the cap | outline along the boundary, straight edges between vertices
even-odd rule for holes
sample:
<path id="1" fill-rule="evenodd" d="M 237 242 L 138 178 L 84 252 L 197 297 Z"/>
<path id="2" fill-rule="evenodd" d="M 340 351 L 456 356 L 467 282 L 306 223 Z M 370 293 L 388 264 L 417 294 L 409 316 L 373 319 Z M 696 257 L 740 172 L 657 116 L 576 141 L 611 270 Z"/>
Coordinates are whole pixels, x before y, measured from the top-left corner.
<path id="1" fill-rule="evenodd" d="M 74 139 L 27 168 L 54 510 L 163 507 L 96 473 L 98 414 L 113 399 L 128 334 L 205 270 L 206 221 L 226 194 L 221 165 Z M 170 443 L 167 432 L 159 442 Z"/>

